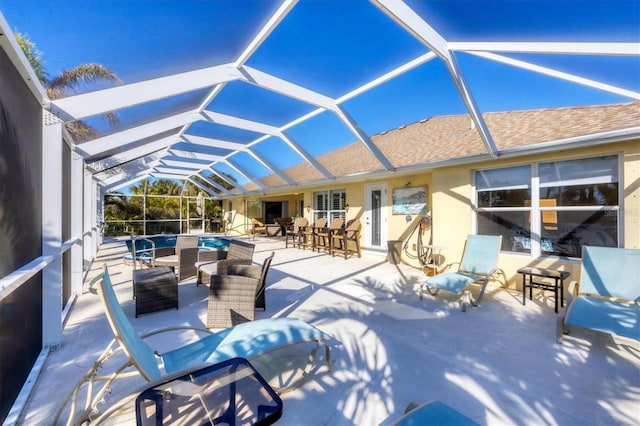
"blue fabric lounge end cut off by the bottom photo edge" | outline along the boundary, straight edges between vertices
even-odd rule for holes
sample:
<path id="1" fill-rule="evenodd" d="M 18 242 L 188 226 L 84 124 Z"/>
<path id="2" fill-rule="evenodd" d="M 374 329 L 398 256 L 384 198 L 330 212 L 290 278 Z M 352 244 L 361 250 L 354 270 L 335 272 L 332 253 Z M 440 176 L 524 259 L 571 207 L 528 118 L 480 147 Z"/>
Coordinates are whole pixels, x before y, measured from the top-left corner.
<path id="1" fill-rule="evenodd" d="M 409 404 L 404 416 L 399 418 L 398 421 L 394 423 L 394 426 L 473 426 L 477 424 L 478 423 L 449 407 L 442 401 L 430 401 L 422 405 L 416 403 Z"/>

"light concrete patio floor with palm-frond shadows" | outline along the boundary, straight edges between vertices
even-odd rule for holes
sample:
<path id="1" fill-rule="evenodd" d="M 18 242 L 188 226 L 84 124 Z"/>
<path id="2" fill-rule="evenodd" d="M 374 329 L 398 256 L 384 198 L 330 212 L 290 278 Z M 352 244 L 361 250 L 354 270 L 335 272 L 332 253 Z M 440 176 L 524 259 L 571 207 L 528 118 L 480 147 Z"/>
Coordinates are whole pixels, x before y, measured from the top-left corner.
<path id="1" fill-rule="evenodd" d="M 331 371 L 317 368 L 284 393 L 282 425 L 378 425 L 398 419 L 411 401 L 439 399 L 480 424 L 637 425 L 640 345 L 576 331 L 555 342 L 551 293 L 522 305 L 519 291 L 490 285 L 483 303 L 463 313 L 455 297 L 417 295 L 421 271 L 381 257 L 330 257 L 255 241 L 254 261 L 275 251 L 267 310 L 257 318 L 297 317 L 332 335 Z M 87 275 L 106 262 L 135 328 L 204 327 L 207 286 L 180 284 L 179 310 L 134 318 L 131 267 L 123 241 L 109 240 Z M 475 290 L 475 289 L 474 289 Z M 113 335 L 98 296 L 85 290 L 67 320 L 60 348 L 47 358 L 20 422 L 47 425 L 67 392 Z M 157 341 L 158 349 L 193 339 Z M 156 347 L 154 347 L 156 349 Z M 129 379 L 127 379 L 129 380 Z M 141 385 L 114 386 L 107 404 Z M 136 381 L 137 380 L 137 381 Z M 120 394 L 120 392 L 122 392 Z"/>

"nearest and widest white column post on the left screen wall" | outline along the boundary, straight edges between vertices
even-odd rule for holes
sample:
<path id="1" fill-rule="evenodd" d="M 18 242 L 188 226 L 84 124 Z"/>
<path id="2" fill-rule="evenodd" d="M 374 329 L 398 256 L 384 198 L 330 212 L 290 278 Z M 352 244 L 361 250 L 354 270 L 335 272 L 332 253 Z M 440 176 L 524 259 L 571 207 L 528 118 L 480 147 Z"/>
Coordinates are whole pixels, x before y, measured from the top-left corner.
<path id="1" fill-rule="evenodd" d="M 53 260 L 42 270 L 42 344 L 62 342 L 62 123 L 43 110 L 42 255 Z"/>

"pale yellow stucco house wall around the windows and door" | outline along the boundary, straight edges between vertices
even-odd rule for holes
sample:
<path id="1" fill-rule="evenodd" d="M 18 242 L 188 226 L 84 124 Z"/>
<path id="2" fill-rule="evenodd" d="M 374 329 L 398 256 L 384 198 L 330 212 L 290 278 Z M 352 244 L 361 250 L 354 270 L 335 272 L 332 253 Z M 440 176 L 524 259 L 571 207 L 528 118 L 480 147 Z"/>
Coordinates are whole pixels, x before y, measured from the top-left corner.
<path id="1" fill-rule="evenodd" d="M 528 155 L 519 158 L 497 158 L 491 161 L 456 167 L 444 167 L 432 172 L 403 175 L 391 179 L 371 180 L 367 182 L 329 183 L 326 186 L 318 186 L 313 189 L 305 189 L 299 193 L 281 193 L 268 199 L 288 199 L 290 206 L 296 200 L 303 199 L 304 205 L 313 206 L 313 193 L 331 189 L 345 189 L 349 212 L 347 220 L 360 219 L 363 229 L 367 219 L 364 210 L 365 185 L 373 183 L 386 183 L 386 209 L 388 218 L 387 239 L 405 241 L 408 247 L 407 253 L 403 253 L 402 261 L 419 268 L 420 264 L 412 257 L 417 254 L 414 244 L 418 243 L 417 233 L 414 228 L 418 225 L 421 216 L 414 215 L 410 223 L 405 220 L 405 215 L 391 214 L 391 194 L 394 188 L 407 186 L 427 187 L 427 211 L 432 216 L 432 225 L 424 230 L 422 242 L 428 243 L 433 233 L 433 244 L 444 246 L 442 254 L 446 263 L 460 260 L 467 235 L 474 232 L 474 215 L 472 210 L 473 197 L 473 172 L 476 169 L 506 167 L 511 165 L 530 164 L 532 162 L 565 160 L 580 157 L 592 157 L 597 155 L 618 154 L 621 158 L 621 181 L 623 189 L 622 203 L 622 229 L 621 244 L 627 248 L 640 248 L 640 141 L 601 145 L 596 147 L 580 148 L 579 150 L 565 150 L 554 153 Z M 289 197 L 289 198 L 286 198 Z M 243 229 L 245 223 L 244 199 L 234 200 L 236 217 L 234 229 Z M 225 203 L 226 207 L 226 203 Z M 303 211 L 304 217 L 312 220 L 313 211 Z M 233 234 L 231 234 L 233 235 Z M 361 236 L 361 240 L 364 238 Z M 517 270 L 522 266 L 539 266 L 553 269 L 567 270 L 571 272 L 571 279 L 579 279 L 580 262 L 555 256 L 532 258 L 526 254 L 501 253 L 498 267 L 505 272 L 506 284 L 512 288 L 519 288 L 520 276 Z"/>

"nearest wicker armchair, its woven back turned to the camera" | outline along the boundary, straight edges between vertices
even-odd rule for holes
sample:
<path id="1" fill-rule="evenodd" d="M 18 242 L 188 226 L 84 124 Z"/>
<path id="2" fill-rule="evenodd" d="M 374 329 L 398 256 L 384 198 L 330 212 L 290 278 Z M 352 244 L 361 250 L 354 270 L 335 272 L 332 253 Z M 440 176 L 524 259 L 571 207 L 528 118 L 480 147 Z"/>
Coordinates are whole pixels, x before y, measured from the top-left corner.
<path id="1" fill-rule="evenodd" d="M 207 328 L 225 328 L 255 319 L 255 309 L 266 309 L 267 273 L 275 252 L 262 266 L 231 265 L 229 275 L 212 275 L 209 285 Z"/>

